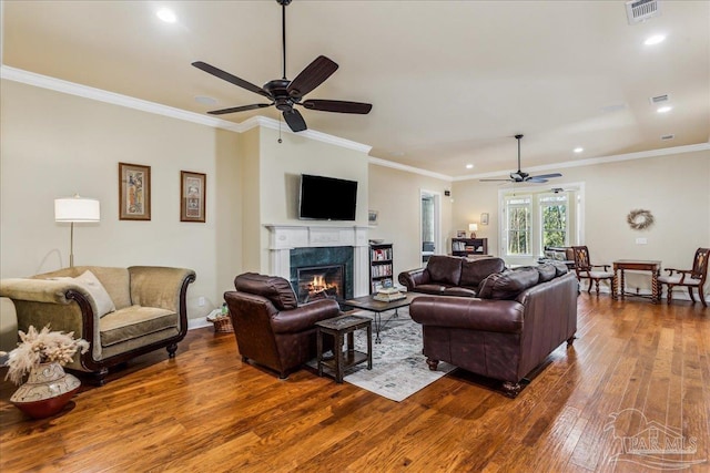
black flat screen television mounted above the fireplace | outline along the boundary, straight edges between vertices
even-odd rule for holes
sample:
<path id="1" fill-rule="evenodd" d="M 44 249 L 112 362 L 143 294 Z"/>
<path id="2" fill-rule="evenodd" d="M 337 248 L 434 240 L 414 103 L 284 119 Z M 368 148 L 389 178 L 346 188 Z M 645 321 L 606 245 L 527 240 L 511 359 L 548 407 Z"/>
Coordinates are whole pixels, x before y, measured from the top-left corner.
<path id="1" fill-rule="evenodd" d="M 298 218 L 312 220 L 354 220 L 357 182 L 334 177 L 301 175 Z"/>

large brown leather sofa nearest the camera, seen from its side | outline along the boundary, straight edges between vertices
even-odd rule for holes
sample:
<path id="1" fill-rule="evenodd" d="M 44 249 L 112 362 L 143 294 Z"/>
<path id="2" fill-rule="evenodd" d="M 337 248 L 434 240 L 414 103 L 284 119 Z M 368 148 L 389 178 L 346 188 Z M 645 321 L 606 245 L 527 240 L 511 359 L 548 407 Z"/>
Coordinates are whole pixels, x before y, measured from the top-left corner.
<path id="1" fill-rule="evenodd" d="M 564 264 L 490 275 L 478 298 L 422 296 L 409 306 L 423 326 L 429 369 L 439 361 L 503 381 L 515 398 L 520 381 L 577 331 L 577 277 Z"/>

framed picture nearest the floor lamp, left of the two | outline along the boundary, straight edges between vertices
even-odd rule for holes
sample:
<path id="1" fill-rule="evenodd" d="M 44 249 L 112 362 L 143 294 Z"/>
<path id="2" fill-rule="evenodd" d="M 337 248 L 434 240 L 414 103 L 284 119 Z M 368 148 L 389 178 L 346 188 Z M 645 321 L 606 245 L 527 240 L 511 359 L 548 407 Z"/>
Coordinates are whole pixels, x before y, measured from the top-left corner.
<path id="1" fill-rule="evenodd" d="M 119 219 L 151 219 L 151 166 L 119 163 Z"/>

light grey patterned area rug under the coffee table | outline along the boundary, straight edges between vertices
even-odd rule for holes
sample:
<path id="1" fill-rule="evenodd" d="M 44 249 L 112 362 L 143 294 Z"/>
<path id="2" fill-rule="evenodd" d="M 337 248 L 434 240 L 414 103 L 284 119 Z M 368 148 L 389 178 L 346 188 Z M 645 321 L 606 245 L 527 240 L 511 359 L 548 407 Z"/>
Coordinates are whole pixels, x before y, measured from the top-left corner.
<path id="1" fill-rule="evenodd" d="M 366 311 L 357 315 L 371 317 Z M 383 322 L 381 343 L 375 343 L 373 327 L 373 369 L 368 370 L 367 363 L 351 368 L 346 382 L 399 402 L 456 368 L 440 362 L 436 371 L 429 370 L 422 354 L 422 326 L 412 320 L 407 308 L 400 308 L 396 318 L 392 312 L 383 313 Z M 356 350 L 366 351 L 366 338 L 365 330 L 355 331 Z"/>

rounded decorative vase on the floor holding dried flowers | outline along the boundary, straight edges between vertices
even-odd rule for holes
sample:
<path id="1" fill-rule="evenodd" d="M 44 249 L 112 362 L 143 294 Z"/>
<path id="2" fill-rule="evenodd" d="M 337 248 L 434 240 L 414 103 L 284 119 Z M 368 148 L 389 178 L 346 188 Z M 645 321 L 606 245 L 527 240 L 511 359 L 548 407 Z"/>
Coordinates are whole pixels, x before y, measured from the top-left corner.
<path id="1" fill-rule="evenodd" d="M 39 363 L 10 402 L 31 418 L 48 418 L 61 411 L 80 387 L 81 381 L 58 362 Z"/>

